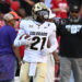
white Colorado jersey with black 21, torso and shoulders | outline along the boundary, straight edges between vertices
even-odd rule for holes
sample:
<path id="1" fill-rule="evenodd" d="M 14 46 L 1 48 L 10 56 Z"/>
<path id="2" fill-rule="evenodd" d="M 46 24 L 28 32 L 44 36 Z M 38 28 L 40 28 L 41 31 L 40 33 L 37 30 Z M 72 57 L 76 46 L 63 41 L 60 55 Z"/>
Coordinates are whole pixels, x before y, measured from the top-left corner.
<path id="1" fill-rule="evenodd" d="M 56 25 L 50 22 L 45 22 L 39 25 L 35 21 L 23 20 L 21 21 L 20 27 L 19 34 L 27 34 L 32 38 L 31 46 L 25 47 L 23 60 L 27 62 L 46 62 L 47 56 L 43 56 L 42 49 L 47 48 L 48 39 L 52 33 L 56 33 Z M 54 38 L 56 38 L 56 35 Z"/>

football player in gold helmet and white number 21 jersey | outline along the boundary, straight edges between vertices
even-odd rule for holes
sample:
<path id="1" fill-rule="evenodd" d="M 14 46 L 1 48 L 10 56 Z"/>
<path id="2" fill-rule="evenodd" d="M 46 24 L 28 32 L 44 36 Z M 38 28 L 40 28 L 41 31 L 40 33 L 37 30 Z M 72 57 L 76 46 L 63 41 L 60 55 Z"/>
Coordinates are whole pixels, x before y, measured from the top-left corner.
<path id="1" fill-rule="evenodd" d="M 14 40 L 15 46 L 25 45 L 24 58 L 20 71 L 20 82 L 45 82 L 47 55 L 57 49 L 56 25 L 47 22 L 48 8 L 36 3 L 32 9 L 34 20 L 21 21 L 19 34 Z M 47 47 L 48 39 L 50 47 Z"/>

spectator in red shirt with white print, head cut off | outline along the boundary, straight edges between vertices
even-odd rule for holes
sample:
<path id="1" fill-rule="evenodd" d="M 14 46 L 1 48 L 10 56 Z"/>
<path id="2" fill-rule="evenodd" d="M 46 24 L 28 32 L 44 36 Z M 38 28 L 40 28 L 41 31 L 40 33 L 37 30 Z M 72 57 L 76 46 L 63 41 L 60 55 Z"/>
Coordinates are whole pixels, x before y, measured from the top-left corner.
<path id="1" fill-rule="evenodd" d="M 67 19 L 68 2 L 67 0 L 51 0 L 51 10 L 56 13 L 56 17 Z"/>

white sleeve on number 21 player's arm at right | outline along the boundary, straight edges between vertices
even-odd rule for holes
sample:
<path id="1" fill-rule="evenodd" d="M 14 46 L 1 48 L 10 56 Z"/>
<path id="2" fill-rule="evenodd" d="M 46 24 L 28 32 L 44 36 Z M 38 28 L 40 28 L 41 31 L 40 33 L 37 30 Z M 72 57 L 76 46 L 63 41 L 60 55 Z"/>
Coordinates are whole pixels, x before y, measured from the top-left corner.
<path id="1" fill-rule="evenodd" d="M 49 36 L 49 40 L 50 40 L 50 45 L 51 45 L 49 48 L 49 52 L 52 52 L 58 47 L 58 43 L 57 43 L 57 38 L 56 38 L 56 32 L 52 32 L 52 34 Z"/>

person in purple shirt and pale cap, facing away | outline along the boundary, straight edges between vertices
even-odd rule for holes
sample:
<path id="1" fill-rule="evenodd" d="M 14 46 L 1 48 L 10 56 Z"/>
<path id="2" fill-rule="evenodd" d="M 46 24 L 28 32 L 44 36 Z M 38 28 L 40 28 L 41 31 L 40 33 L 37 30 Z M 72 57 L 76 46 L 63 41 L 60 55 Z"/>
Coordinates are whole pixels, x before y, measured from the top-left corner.
<path id="1" fill-rule="evenodd" d="M 0 81 L 12 82 L 15 75 L 16 58 L 21 63 L 19 49 L 13 46 L 16 32 L 14 16 L 10 13 L 4 14 L 5 25 L 0 28 Z"/>

